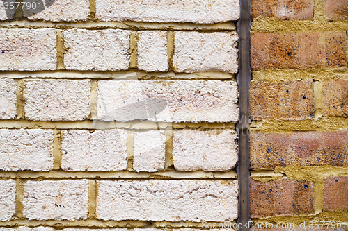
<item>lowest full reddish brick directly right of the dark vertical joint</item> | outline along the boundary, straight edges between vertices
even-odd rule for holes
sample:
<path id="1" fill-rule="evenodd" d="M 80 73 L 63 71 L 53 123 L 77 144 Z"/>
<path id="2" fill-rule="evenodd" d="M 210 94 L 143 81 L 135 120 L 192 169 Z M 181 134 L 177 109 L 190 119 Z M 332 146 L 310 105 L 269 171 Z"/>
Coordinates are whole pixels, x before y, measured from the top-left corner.
<path id="1" fill-rule="evenodd" d="M 313 214 L 312 182 L 283 178 L 276 181 L 250 181 L 251 218 Z"/>

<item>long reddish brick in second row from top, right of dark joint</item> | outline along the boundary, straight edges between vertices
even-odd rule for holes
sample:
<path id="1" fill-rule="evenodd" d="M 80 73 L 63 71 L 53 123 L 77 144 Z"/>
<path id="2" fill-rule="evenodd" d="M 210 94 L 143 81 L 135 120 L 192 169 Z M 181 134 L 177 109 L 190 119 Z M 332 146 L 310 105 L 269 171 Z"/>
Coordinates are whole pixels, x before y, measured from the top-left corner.
<path id="1" fill-rule="evenodd" d="M 251 68 L 308 69 L 346 65 L 345 32 L 255 33 Z"/>

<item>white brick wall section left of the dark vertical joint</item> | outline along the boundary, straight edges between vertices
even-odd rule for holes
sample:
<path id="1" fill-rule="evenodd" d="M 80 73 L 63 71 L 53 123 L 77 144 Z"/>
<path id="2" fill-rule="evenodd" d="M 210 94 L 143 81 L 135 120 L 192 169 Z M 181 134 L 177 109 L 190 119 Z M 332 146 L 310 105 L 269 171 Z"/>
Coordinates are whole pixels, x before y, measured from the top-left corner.
<path id="1" fill-rule="evenodd" d="M 11 3 L 0 1 L 0 231 L 237 221 L 239 1 Z"/>

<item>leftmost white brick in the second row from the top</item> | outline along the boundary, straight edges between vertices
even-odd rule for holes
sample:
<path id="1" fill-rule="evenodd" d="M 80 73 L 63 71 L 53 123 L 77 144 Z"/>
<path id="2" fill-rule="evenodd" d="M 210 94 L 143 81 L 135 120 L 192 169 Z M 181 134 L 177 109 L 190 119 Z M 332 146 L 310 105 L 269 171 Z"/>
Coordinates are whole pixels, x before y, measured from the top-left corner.
<path id="1" fill-rule="evenodd" d="M 54 29 L 0 29 L 0 71 L 54 70 Z"/>

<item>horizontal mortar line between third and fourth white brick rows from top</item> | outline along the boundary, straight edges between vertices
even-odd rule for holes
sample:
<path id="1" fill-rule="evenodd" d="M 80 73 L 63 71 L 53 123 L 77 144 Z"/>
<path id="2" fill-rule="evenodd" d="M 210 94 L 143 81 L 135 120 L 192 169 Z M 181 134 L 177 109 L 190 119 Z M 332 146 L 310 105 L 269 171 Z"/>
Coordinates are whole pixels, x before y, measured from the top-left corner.
<path id="1" fill-rule="evenodd" d="M 105 129 L 125 129 L 125 130 L 153 130 L 161 128 L 161 130 L 184 129 L 184 128 L 200 128 L 202 130 L 209 129 L 235 129 L 235 123 L 166 123 L 166 122 L 150 122 L 150 121 L 129 121 L 129 122 L 102 122 L 97 121 L 97 128 L 93 121 L 27 121 L 18 120 L 0 120 L 0 128 L 29 128 L 29 129 L 88 129 L 88 130 L 105 130 Z M 158 127 L 157 127 L 158 126 Z"/>

